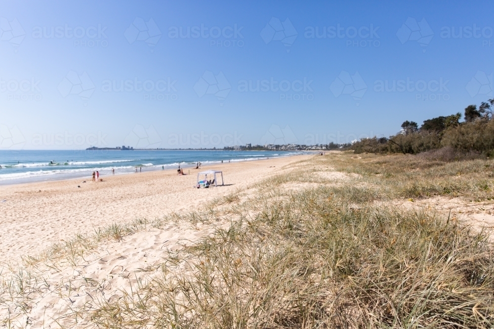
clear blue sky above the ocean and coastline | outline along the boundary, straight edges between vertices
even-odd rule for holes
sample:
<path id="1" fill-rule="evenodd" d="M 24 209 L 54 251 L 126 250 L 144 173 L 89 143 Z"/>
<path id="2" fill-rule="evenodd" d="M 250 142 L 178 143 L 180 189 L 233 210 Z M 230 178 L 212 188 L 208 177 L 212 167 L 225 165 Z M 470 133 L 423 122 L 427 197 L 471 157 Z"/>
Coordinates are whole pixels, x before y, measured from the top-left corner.
<path id="1" fill-rule="evenodd" d="M 1 148 L 343 143 L 493 97 L 493 1 L 212 2 L 1 1 Z"/>

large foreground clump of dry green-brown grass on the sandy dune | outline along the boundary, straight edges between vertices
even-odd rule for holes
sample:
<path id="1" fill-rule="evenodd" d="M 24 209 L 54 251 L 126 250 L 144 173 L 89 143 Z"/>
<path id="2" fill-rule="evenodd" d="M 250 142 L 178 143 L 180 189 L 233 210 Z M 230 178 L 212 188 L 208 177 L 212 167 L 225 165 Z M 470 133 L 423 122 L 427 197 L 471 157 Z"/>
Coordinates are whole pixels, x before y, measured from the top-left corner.
<path id="1" fill-rule="evenodd" d="M 186 248 L 92 313 L 102 328 L 490 328 L 493 254 L 430 212 L 304 191 Z M 171 257 L 170 257 L 171 259 Z"/>

